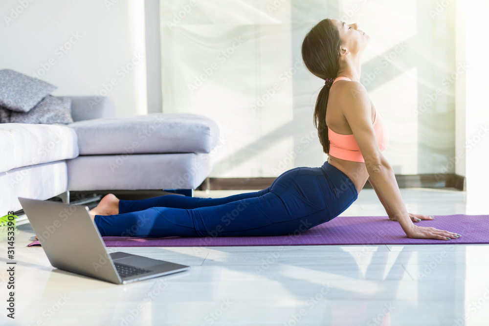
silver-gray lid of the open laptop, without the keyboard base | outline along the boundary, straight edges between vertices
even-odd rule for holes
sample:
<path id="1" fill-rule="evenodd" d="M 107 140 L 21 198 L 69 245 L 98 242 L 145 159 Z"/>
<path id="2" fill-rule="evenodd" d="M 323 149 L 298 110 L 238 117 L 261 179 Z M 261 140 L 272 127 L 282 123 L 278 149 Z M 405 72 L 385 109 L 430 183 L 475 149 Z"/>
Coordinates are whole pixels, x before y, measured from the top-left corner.
<path id="1" fill-rule="evenodd" d="M 19 201 L 53 267 L 122 283 L 87 206 Z"/>

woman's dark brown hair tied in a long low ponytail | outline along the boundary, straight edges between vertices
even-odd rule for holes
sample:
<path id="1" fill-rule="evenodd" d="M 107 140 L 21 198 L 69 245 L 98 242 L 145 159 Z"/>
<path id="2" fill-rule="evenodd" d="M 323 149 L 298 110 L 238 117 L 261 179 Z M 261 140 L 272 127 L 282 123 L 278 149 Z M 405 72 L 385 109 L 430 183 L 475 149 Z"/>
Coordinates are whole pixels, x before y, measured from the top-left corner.
<path id="1" fill-rule="evenodd" d="M 323 19 L 311 28 L 302 42 L 301 52 L 304 64 L 315 76 L 326 80 L 337 77 L 339 71 L 341 38 L 339 31 L 330 19 Z M 326 104 L 330 87 L 323 85 L 317 96 L 313 123 L 317 128 L 319 142 L 323 151 L 330 152 L 328 126 L 326 125 Z"/>

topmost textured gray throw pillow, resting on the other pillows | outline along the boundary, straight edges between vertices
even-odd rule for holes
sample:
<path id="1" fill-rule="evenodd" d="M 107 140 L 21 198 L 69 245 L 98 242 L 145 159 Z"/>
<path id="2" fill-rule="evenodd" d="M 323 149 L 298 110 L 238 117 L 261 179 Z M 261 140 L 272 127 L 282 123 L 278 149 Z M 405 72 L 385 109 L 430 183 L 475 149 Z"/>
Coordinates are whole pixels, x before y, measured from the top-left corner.
<path id="1" fill-rule="evenodd" d="M 28 112 L 57 88 L 14 70 L 0 70 L 0 106 L 12 111 Z"/>

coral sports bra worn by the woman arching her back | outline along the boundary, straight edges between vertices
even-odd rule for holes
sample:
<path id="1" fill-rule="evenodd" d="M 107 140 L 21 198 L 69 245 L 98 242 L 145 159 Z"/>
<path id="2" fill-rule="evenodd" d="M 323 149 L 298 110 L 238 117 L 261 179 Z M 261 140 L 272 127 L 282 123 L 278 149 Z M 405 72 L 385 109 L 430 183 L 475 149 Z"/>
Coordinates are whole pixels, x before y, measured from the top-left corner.
<path id="1" fill-rule="evenodd" d="M 351 81 L 348 77 L 337 77 L 333 84 L 337 80 L 347 79 Z M 378 109 L 375 109 L 375 118 L 373 122 L 375 136 L 377 138 L 378 147 L 380 152 L 383 152 L 387 145 L 389 144 L 389 130 L 385 125 L 384 119 Z M 356 143 L 354 135 L 342 135 L 334 132 L 328 127 L 328 136 L 330 140 L 330 154 L 331 156 L 354 162 L 365 163 L 363 155 L 360 152 L 360 148 Z"/>

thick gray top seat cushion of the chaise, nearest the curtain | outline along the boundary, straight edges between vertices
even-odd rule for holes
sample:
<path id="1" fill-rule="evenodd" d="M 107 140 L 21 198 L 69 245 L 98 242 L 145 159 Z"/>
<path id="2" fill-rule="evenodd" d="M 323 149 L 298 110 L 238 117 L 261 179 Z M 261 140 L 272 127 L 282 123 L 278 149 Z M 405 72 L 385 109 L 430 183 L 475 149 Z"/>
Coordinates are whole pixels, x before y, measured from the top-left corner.
<path id="1" fill-rule="evenodd" d="M 219 136 L 216 122 L 192 113 L 107 117 L 67 126 L 76 130 L 80 155 L 209 153 Z"/>

